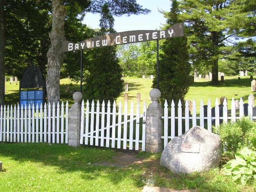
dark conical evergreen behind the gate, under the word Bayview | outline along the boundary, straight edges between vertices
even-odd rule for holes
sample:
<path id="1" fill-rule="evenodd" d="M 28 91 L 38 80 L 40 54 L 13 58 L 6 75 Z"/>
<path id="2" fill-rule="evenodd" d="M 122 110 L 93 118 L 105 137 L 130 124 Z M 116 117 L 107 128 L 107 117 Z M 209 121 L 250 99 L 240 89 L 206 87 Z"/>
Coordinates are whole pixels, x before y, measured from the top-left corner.
<path id="1" fill-rule="evenodd" d="M 114 33 L 114 17 L 109 10 L 109 5 L 102 6 L 99 35 Z M 103 47 L 91 51 L 84 86 L 86 99 L 110 100 L 112 103 L 122 92 L 122 70 L 118 65 L 116 47 Z"/>

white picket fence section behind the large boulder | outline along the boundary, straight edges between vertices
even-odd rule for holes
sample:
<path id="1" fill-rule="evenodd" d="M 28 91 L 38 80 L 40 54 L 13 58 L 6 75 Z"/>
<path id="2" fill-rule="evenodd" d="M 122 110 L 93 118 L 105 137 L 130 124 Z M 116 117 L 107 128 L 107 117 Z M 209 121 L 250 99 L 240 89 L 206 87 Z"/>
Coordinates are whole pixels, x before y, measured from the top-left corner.
<path id="1" fill-rule="evenodd" d="M 168 114 L 168 104 L 167 101 L 164 103 L 164 133 L 162 139 L 164 139 L 164 146 L 167 145 L 170 139 L 173 139 L 176 136 L 180 136 L 187 132 L 191 127 L 199 125 L 205 127 L 205 129 L 212 131 L 212 125 L 218 126 L 222 122 L 228 122 L 229 120 L 235 122 L 237 119 L 242 118 L 245 114 L 251 118 L 256 119 L 256 115 L 253 115 L 253 103 L 248 99 L 248 109 L 244 110 L 243 99 L 240 99 L 239 109 L 236 110 L 236 104 L 234 99 L 231 101 L 231 109 L 228 110 L 227 100 L 223 102 L 222 109 L 219 106 L 219 100 L 216 99 L 215 108 L 212 109 L 211 101 L 208 100 L 206 109 L 204 108 L 204 103 L 201 100 L 199 115 L 197 115 L 197 106 L 196 101 L 193 101 L 193 110 L 191 114 L 189 112 L 189 104 L 186 100 L 184 116 L 182 116 L 182 104 L 179 100 L 178 110 L 175 114 L 175 103 L 172 101 L 170 105 L 170 116 Z M 255 108 L 254 108 L 255 110 Z M 221 112 L 221 113 L 220 113 Z M 253 116 L 252 116 L 253 115 Z"/>

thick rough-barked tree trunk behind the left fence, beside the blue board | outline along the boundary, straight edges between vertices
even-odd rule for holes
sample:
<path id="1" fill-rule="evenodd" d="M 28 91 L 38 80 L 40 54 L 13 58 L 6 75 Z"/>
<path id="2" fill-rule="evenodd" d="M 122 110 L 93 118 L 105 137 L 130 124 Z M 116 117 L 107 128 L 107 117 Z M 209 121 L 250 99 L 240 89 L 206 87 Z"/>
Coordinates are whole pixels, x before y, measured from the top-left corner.
<path id="1" fill-rule="evenodd" d="M 52 30 L 50 33 L 51 45 L 48 50 L 48 66 L 46 78 L 46 91 L 48 102 L 55 102 L 60 99 L 60 66 L 63 60 L 61 43 L 65 39 L 66 10 L 62 0 L 52 1 Z"/>

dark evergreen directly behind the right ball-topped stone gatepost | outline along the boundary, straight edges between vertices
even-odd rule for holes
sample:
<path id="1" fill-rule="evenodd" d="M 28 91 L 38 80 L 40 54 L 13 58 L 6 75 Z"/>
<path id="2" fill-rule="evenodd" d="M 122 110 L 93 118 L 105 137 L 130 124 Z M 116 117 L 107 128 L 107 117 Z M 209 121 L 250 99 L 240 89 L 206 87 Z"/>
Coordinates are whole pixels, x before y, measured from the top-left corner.
<path id="1" fill-rule="evenodd" d="M 166 28 L 182 22 L 179 19 L 178 4 L 178 1 L 174 0 L 170 12 L 165 13 L 167 18 Z M 163 104 L 165 99 L 168 103 L 174 99 L 177 104 L 179 99 L 184 101 L 184 96 L 191 83 L 187 39 L 186 37 L 166 39 L 161 50 L 163 54 L 160 54 L 159 64 L 160 101 Z M 153 80 L 153 87 L 157 87 L 157 78 Z"/>

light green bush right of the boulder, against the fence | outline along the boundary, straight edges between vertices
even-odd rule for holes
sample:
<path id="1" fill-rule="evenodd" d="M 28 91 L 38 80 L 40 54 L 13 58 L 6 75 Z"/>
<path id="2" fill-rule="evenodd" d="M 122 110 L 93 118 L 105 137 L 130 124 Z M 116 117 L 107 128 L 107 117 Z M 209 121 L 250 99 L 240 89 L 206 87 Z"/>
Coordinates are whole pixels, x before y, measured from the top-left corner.
<path id="1" fill-rule="evenodd" d="M 243 147 L 255 150 L 256 122 L 247 117 L 237 122 L 222 123 L 219 127 L 214 127 L 214 133 L 220 136 L 225 152 L 234 154 Z"/>

